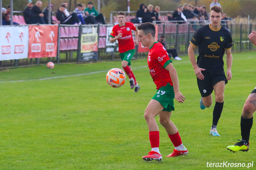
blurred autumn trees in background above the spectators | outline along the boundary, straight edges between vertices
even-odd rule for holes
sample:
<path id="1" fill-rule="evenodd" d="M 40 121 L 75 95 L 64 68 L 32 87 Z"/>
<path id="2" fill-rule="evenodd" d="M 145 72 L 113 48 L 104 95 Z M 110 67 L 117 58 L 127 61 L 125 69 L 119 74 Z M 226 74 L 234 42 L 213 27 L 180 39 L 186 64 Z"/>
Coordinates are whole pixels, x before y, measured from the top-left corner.
<path id="1" fill-rule="evenodd" d="M 43 2 L 42 8 L 48 5 L 48 0 L 41 0 Z M 65 0 L 52 0 L 53 11 L 56 12 L 58 7 L 60 7 L 61 2 Z M 69 0 L 66 0 L 69 3 Z M 97 10 L 98 1 L 97 0 L 76 0 L 76 2 L 81 4 L 86 4 L 91 1 L 95 9 Z M 159 6 L 161 11 L 174 11 L 178 6 L 183 5 L 184 3 L 194 5 L 197 2 L 197 5 L 205 5 L 207 12 L 210 10 L 210 4 L 213 0 L 130 0 L 130 10 L 137 11 L 139 5 L 144 3 L 146 5 L 152 4 L 154 7 Z M 27 0 L 15 0 L 14 11 L 23 11 L 26 7 Z M 36 0 L 33 0 L 34 4 Z M 255 7 L 256 1 L 242 1 L 242 0 L 219 0 L 218 1 L 223 8 L 223 12 L 227 14 L 228 17 L 235 18 L 237 16 L 247 17 L 250 15 L 250 18 L 254 19 L 256 17 Z M 71 9 L 75 9 L 75 0 L 71 1 Z M 3 7 L 6 7 L 10 4 L 10 0 L 3 0 Z M 70 5 L 70 4 L 69 4 Z M 69 8 L 68 8 L 69 10 Z M 101 13 L 106 17 L 106 20 L 109 20 L 110 11 L 127 11 L 127 0 L 101 0 Z"/>

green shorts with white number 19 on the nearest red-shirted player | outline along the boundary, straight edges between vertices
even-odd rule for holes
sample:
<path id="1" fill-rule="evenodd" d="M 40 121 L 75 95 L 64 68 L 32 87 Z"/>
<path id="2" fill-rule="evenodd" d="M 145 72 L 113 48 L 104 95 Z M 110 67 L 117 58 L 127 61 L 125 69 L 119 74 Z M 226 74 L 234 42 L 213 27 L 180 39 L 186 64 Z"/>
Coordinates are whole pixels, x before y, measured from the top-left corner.
<path id="1" fill-rule="evenodd" d="M 166 86 L 161 87 L 152 99 L 158 101 L 163 107 L 163 111 L 172 111 L 174 110 L 174 90 L 173 86 L 168 83 Z"/>

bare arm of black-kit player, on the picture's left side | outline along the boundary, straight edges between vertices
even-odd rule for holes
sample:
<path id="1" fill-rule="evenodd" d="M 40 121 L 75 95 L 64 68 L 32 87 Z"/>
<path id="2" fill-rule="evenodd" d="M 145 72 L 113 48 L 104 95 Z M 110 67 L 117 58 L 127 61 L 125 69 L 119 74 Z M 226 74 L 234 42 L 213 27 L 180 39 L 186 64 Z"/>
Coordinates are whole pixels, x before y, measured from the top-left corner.
<path id="1" fill-rule="evenodd" d="M 193 69 L 195 70 L 195 75 L 198 79 L 200 80 L 203 80 L 204 79 L 204 76 L 203 74 L 201 73 L 201 71 L 204 71 L 205 69 L 202 69 L 202 68 L 199 68 L 196 61 L 195 61 L 195 49 L 197 48 L 197 46 L 193 45 L 192 43 L 190 43 L 188 49 L 187 49 L 187 54 L 188 54 L 188 57 L 190 59 L 190 62 L 193 66 Z"/>

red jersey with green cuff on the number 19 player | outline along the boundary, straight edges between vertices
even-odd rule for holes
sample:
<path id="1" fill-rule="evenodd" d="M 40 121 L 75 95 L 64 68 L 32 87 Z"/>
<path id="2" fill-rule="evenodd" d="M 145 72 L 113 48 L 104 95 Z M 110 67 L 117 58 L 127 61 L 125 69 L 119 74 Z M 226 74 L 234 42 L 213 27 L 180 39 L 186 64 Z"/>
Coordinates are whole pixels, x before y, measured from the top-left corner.
<path id="1" fill-rule="evenodd" d="M 156 89 L 167 85 L 167 83 L 173 86 L 170 73 L 165 69 L 171 62 L 166 49 L 161 43 L 155 42 L 153 46 L 150 47 L 147 56 L 147 64 Z"/>

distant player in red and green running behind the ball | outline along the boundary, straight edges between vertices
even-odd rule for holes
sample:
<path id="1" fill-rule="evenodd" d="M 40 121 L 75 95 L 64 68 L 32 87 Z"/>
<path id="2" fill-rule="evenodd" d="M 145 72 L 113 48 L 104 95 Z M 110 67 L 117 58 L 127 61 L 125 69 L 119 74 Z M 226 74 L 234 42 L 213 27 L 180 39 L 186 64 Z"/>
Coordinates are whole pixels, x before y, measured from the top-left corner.
<path id="1" fill-rule="evenodd" d="M 134 92 L 139 91 L 139 84 L 136 82 L 131 68 L 131 59 L 135 53 L 134 44 L 138 45 L 138 30 L 131 22 L 125 22 L 125 13 L 118 12 L 117 14 L 118 25 L 115 25 L 110 35 L 110 42 L 114 43 L 118 41 L 119 53 L 122 59 L 122 67 L 129 77 L 131 89 L 134 88 Z M 131 30 L 135 31 L 135 41 L 132 38 Z"/>

